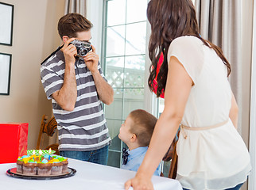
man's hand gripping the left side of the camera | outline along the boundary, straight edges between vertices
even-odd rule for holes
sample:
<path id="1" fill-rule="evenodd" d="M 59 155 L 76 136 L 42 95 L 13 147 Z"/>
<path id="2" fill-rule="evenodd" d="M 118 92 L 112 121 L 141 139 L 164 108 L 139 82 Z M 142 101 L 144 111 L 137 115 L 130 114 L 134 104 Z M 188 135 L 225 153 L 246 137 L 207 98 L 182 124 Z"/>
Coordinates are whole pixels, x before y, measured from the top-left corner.
<path id="1" fill-rule="evenodd" d="M 66 65 L 75 64 L 76 62 L 76 46 L 70 44 L 73 40 L 75 40 L 75 38 L 68 39 L 64 46 L 61 48 L 61 51 L 64 53 Z"/>

